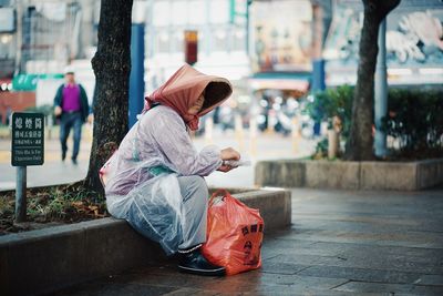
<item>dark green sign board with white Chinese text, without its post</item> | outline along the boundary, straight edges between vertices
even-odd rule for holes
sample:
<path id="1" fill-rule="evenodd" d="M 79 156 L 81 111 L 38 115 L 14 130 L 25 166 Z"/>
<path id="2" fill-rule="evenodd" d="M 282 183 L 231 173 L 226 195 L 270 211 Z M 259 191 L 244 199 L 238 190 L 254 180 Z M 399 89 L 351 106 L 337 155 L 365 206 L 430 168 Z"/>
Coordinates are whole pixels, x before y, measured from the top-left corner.
<path id="1" fill-rule="evenodd" d="M 44 116 L 41 113 L 12 114 L 13 166 L 42 165 L 44 161 Z"/>

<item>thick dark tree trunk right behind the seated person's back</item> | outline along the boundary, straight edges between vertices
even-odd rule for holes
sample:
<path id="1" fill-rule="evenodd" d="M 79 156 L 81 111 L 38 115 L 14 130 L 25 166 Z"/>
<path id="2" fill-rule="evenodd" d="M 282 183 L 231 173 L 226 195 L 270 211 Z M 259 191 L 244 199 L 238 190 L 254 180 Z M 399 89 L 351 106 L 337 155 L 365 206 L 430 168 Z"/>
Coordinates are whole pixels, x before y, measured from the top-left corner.
<path id="1" fill-rule="evenodd" d="M 110 156 L 110 143 L 127 132 L 133 0 L 102 0 L 99 45 L 92 59 L 95 73 L 94 131 L 84 185 L 103 193 L 99 170 Z M 112 146 L 112 145 L 111 145 Z"/>

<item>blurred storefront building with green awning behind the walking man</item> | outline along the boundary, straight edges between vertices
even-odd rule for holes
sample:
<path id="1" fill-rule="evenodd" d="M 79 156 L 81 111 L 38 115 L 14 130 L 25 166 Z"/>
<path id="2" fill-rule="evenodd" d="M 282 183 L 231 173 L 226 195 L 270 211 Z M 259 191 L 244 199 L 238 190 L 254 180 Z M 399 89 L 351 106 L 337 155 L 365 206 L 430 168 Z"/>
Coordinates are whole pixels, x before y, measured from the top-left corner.
<path id="1" fill-rule="evenodd" d="M 0 1 L 0 115 L 52 104 L 68 64 L 92 100 L 100 1 Z"/>

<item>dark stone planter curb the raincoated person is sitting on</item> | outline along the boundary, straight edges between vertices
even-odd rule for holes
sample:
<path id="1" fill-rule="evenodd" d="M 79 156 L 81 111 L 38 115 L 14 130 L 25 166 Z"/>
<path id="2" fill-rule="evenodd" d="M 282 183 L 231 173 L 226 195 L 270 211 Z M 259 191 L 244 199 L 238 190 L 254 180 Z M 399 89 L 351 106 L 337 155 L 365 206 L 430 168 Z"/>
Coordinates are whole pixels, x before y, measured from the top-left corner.
<path id="1" fill-rule="evenodd" d="M 291 193 L 233 194 L 260 210 L 265 235 L 290 225 Z M 0 295 L 39 295 L 150 263 L 167 261 L 159 245 L 112 217 L 0 236 Z"/>

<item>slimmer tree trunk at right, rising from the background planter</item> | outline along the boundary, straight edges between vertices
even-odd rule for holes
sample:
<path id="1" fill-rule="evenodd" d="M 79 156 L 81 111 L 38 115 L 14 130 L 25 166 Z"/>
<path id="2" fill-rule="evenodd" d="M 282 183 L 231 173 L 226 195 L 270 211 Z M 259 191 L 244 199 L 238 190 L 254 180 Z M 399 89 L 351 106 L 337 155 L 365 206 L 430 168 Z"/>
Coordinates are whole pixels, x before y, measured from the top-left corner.
<path id="1" fill-rule="evenodd" d="M 352 122 L 346 159 L 373 159 L 374 73 L 379 52 L 378 37 L 381 21 L 400 0 L 363 0 L 364 19 L 359 49 L 359 68 L 352 103 Z"/>

